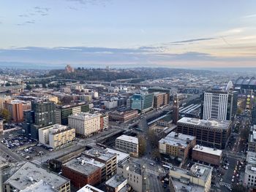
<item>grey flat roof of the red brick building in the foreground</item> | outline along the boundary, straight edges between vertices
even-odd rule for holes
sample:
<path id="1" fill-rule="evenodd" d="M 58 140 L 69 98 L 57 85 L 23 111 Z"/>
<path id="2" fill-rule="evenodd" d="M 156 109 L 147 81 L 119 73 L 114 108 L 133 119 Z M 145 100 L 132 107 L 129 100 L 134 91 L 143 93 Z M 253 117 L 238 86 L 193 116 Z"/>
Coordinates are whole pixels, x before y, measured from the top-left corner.
<path id="1" fill-rule="evenodd" d="M 90 175 L 96 172 L 99 167 L 93 164 L 89 164 L 86 161 L 79 161 L 76 158 L 68 161 L 64 166 L 67 166 L 69 169 L 74 170 L 75 172 L 80 172 L 81 174 Z"/>

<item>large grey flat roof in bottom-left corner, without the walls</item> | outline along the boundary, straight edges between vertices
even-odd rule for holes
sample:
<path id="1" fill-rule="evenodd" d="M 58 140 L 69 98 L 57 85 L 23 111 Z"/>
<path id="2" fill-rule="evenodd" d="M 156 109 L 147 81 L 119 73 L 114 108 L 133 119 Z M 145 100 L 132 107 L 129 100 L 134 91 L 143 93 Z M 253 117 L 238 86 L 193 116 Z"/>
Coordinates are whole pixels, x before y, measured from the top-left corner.
<path id="1" fill-rule="evenodd" d="M 65 177 L 49 172 L 46 169 L 42 169 L 36 164 L 28 161 L 26 164 L 21 166 L 15 174 L 12 174 L 12 177 L 10 177 L 5 183 L 12 185 L 18 190 L 23 190 L 40 180 L 48 183 L 48 185 L 53 188 L 59 188 L 61 185 L 69 182 Z"/>

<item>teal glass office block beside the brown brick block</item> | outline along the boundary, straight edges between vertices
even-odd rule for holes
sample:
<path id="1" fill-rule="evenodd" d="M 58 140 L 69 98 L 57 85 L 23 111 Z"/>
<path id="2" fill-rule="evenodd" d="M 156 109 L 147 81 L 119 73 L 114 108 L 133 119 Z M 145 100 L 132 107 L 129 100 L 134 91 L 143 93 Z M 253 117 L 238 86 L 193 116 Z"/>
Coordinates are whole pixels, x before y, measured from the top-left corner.
<path id="1" fill-rule="evenodd" d="M 139 110 L 140 112 L 146 112 L 153 108 L 154 93 L 140 93 L 132 96 L 132 110 Z"/>

